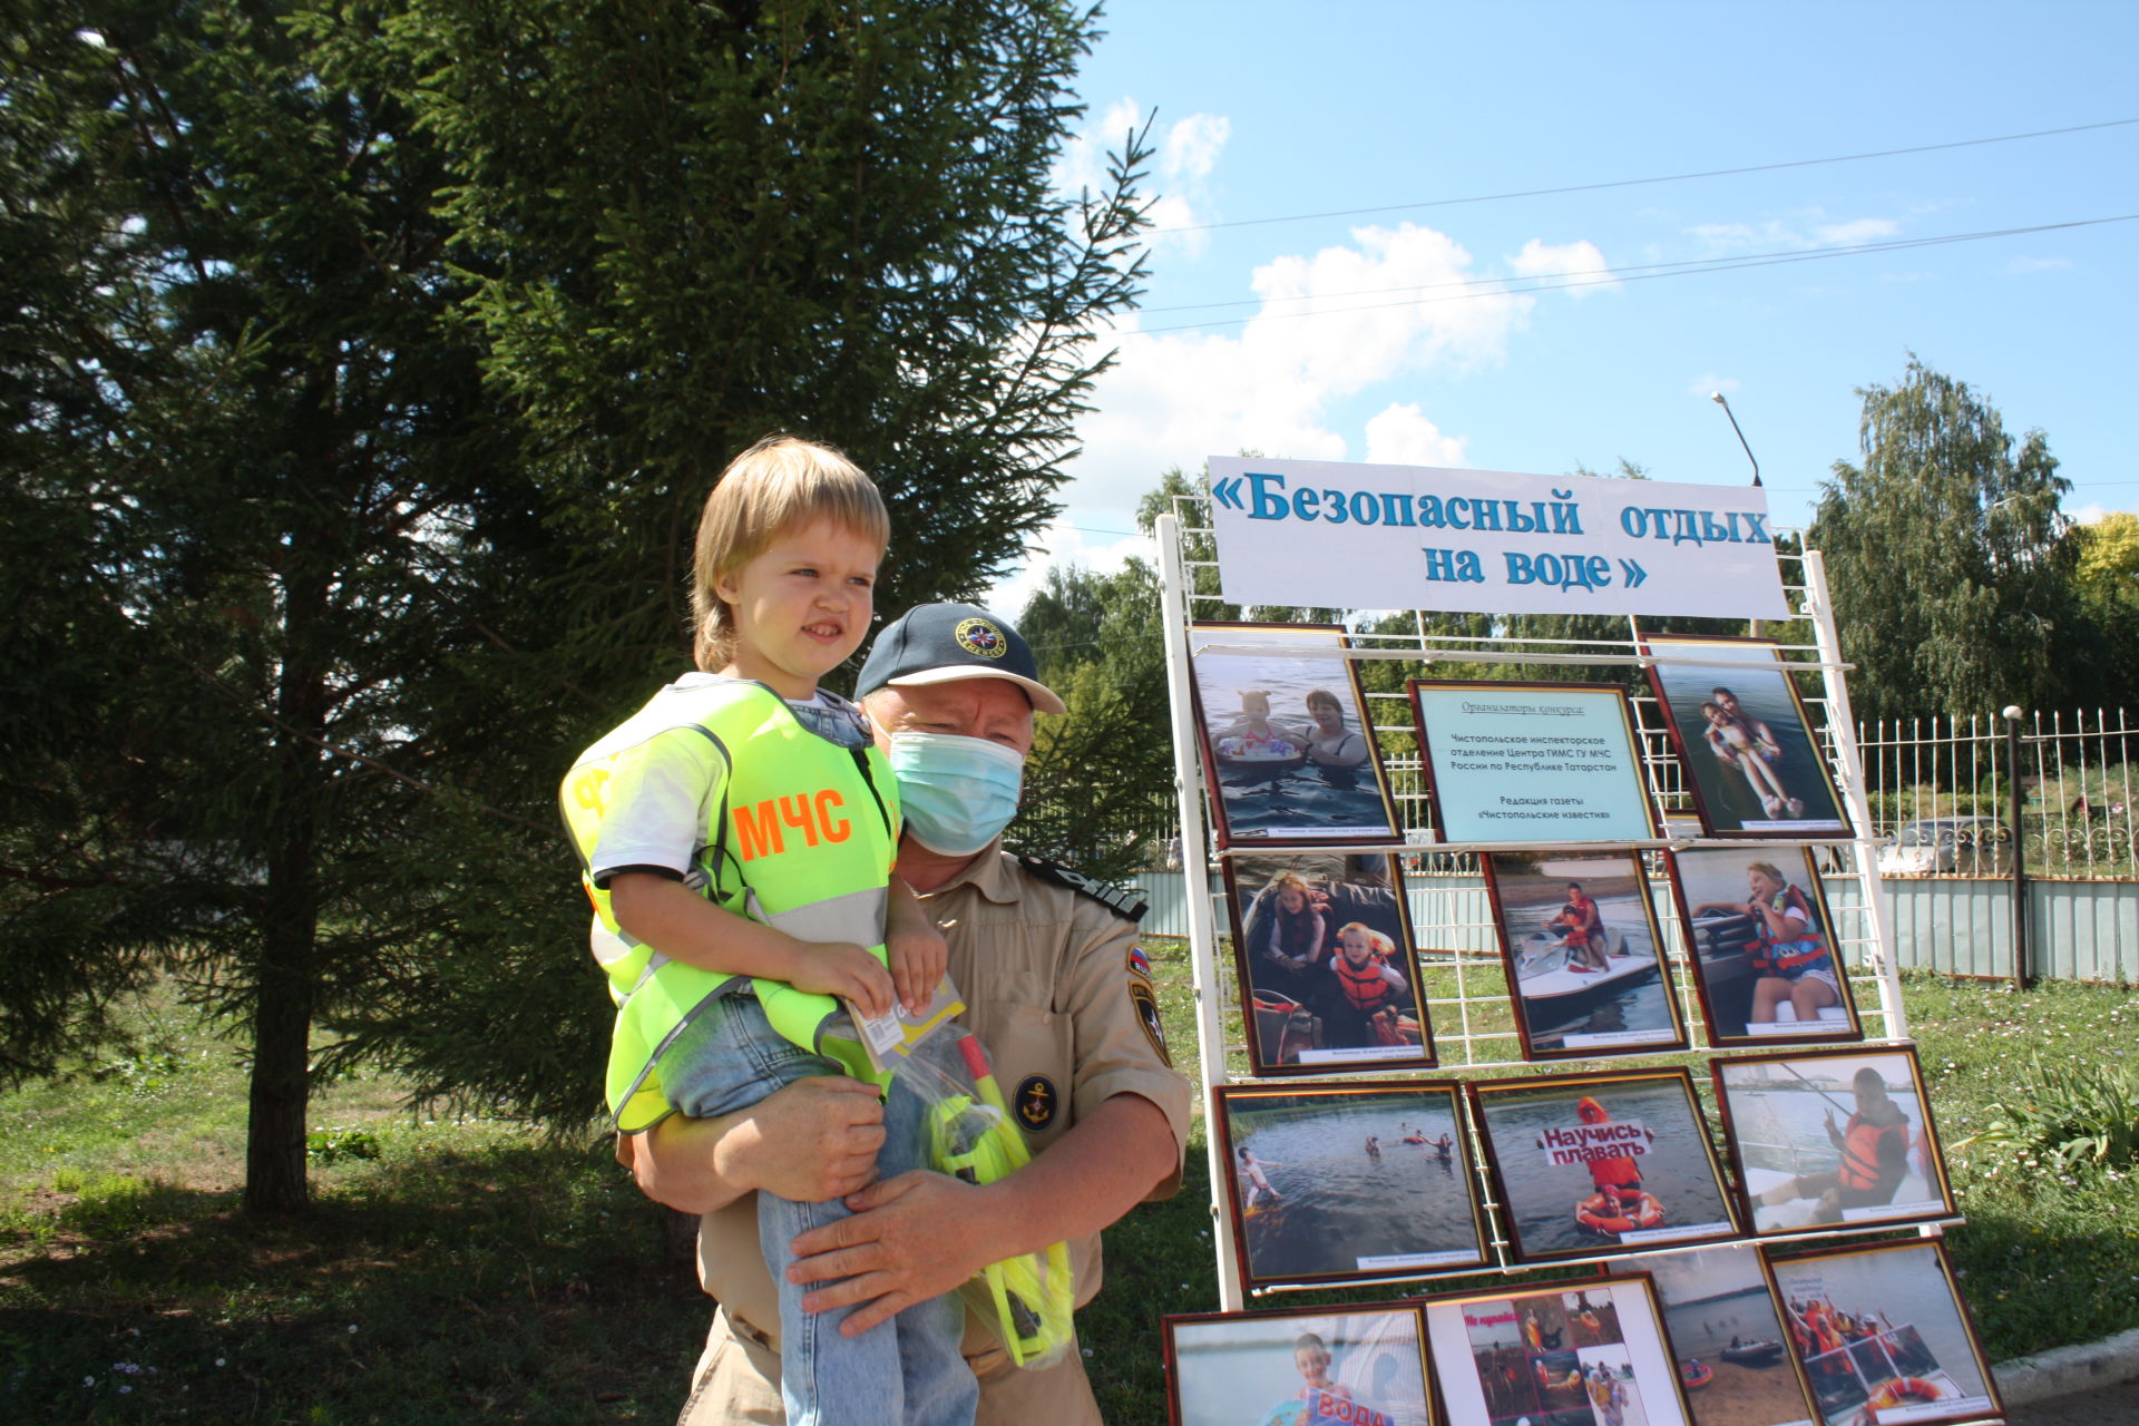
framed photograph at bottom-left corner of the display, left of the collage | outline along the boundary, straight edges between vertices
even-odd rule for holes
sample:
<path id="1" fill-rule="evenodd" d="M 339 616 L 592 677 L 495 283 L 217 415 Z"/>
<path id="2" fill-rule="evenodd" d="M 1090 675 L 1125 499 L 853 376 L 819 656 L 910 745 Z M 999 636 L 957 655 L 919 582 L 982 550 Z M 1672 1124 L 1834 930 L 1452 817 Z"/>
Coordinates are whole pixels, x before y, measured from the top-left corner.
<path id="1" fill-rule="evenodd" d="M 1164 1317 L 1172 1426 L 1440 1426 L 1418 1308 Z"/>

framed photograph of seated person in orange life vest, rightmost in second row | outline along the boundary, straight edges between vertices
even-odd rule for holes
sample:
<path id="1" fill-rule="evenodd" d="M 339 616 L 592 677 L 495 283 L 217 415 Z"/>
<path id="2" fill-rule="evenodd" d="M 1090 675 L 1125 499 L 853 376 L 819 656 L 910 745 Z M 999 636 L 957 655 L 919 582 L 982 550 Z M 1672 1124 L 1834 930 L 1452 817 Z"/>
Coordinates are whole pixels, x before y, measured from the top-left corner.
<path id="1" fill-rule="evenodd" d="M 1711 1045 L 1863 1039 L 1807 847 L 1671 853 Z"/>

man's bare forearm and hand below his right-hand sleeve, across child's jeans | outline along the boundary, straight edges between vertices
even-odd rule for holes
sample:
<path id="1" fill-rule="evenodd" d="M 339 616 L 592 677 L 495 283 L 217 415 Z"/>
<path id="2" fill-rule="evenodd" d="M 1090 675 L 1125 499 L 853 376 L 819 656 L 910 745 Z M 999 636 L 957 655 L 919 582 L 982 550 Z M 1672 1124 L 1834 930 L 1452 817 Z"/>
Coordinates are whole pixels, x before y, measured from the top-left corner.
<path id="1" fill-rule="evenodd" d="M 866 1332 L 939 1298 L 988 1264 L 1110 1227 L 1174 1176 L 1181 1146 L 1142 1095 L 1114 1095 L 1016 1174 L 973 1187 L 943 1174 L 901 1174 L 847 1195 L 856 1216 L 796 1238 L 794 1283 L 824 1283 L 811 1313 L 866 1304 L 841 1323 Z"/>

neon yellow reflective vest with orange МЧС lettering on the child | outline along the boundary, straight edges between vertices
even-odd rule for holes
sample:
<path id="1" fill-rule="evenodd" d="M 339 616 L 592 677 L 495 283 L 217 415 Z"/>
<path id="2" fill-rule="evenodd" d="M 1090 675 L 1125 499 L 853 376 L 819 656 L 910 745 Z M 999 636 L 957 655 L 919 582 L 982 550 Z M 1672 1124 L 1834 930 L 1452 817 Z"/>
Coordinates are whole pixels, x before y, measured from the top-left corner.
<path id="1" fill-rule="evenodd" d="M 631 748 L 676 729 L 704 735 L 725 770 L 684 885 L 800 941 L 847 941 L 883 960 L 886 887 L 898 840 L 896 785 L 883 755 L 819 738 L 764 684 L 684 680 L 657 693 L 580 755 L 560 793 L 595 904 L 590 945 L 618 1005 L 605 1090 L 625 1133 L 650 1129 L 674 1107 L 655 1071 L 661 1052 L 712 1001 L 744 986 L 635 941 L 616 924 L 610 892 L 588 874 L 601 830 L 599 795 L 588 789 L 599 789 L 607 768 Z M 744 750 L 740 761 L 734 748 Z M 841 1009 L 832 996 L 781 981 L 747 983 L 781 1035 L 860 1078 L 881 1080 L 860 1043 L 828 1033 L 826 1022 Z"/>

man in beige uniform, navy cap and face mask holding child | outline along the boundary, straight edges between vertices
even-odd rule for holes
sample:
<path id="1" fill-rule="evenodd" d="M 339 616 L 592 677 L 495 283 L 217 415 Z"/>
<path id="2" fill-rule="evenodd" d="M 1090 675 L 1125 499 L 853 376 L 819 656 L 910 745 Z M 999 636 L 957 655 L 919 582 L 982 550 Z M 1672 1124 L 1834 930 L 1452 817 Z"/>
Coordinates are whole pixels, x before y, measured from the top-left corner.
<path id="1" fill-rule="evenodd" d="M 883 629 L 858 693 L 903 770 L 903 795 L 909 776 L 930 776 L 915 748 L 956 753 L 960 744 L 943 740 L 984 740 L 1022 755 L 1033 710 L 1063 712 L 1025 639 L 973 605 L 922 605 Z M 751 1189 L 847 1197 L 851 1219 L 796 1240 L 796 1272 L 821 1283 L 813 1311 L 847 1308 L 843 1328 L 862 1330 L 990 1261 L 1059 1240 L 1070 1240 L 1082 1306 L 1099 1291 L 1099 1229 L 1181 1180 L 1189 1088 L 1166 1056 L 1136 921 L 1076 877 L 1003 853 L 999 800 L 958 821 L 958 797 L 943 787 L 960 782 L 907 797 L 898 874 L 943 928 L 965 1024 L 992 1056 L 1033 1163 L 986 1187 L 941 1174 L 871 1182 L 881 1107 L 866 1086 L 830 1075 L 725 1118 L 672 1116 L 620 1140 L 618 1159 L 648 1195 L 704 1214 L 699 1281 L 721 1308 L 680 1426 L 787 1420 L 779 1306 Z M 980 791 L 973 800 L 988 802 Z M 986 844 L 971 851 L 975 840 Z M 980 1377 L 980 1426 L 1099 1422 L 1074 1343 L 1061 1364 L 1020 1370 L 967 1315 L 965 1353 Z"/>

